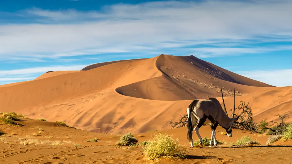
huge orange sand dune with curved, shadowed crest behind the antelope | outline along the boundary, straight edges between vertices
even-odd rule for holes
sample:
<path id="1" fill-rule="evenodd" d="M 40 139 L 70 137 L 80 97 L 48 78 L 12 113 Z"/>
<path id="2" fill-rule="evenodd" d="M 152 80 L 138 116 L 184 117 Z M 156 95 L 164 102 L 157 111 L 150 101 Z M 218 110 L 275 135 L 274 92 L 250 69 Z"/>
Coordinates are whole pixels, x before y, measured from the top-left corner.
<path id="1" fill-rule="evenodd" d="M 169 129 L 169 121 L 186 114 L 193 99 L 217 97 L 221 102 L 220 87 L 227 109 L 233 106 L 235 87 L 236 106 L 240 100 L 249 102 L 257 120 L 292 112 L 292 86 L 274 87 L 192 55 L 164 54 L 53 71 L 2 85 L 0 109 L 93 132 L 142 133 Z"/>

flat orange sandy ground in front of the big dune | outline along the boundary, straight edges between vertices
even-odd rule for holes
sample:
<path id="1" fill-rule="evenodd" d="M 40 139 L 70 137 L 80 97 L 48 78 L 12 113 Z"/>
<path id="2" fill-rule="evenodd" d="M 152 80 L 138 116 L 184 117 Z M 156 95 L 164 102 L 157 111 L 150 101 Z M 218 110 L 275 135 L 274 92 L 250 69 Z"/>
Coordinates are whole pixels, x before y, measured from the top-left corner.
<path id="1" fill-rule="evenodd" d="M 54 126 L 52 122 L 19 118 L 17 125 L 0 125 L 0 162 L 1 163 L 150 163 L 144 155 L 143 146 L 116 146 L 120 134 L 88 132 L 73 127 Z M 249 131 L 233 129 L 233 136 L 220 134 L 216 138 L 227 143 L 249 135 L 260 145 L 189 148 L 186 142 L 186 128 L 162 130 L 161 133 L 179 138 L 180 145 L 187 149 L 189 156 L 181 160 L 162 159 L 161 163 L 291 163 L 292 140 L 281 140 L 266 146 L 269 135 L 251 134 Z M 39 133 L 40 132 L 40 133 Z M 36 133 L 34 136 L 33 133 Z M 149 140 L 157 132 L 134 134 L 138 143 Z M 200 129 L 202 137 L 211 136 L 209 126 Z M 96 138 L 98 142 L 86 142 Z M 193 137 L 197 140 L 197 136 Z M 21 145 L 28 141 L 28 145 Z M 60 142 L 60 144 L 56 144 Z M 76 145 L 78 144 L 78 145 Z"/>

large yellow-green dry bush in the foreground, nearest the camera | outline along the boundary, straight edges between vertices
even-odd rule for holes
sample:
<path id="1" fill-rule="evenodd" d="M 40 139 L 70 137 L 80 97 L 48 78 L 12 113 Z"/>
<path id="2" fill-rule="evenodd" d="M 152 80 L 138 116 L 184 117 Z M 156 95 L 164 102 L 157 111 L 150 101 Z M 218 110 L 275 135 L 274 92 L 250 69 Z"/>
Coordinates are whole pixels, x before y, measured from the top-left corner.
<path id="1" fill-rule="evenodd" d="M 145 156 L 148 160 L 159 160 L 160 158 L 182 159 L 187 156 L 187 150 L 179 144 L 179 139 L 174 139 L 166 133 L 161 132 L 154 135 L 145 147 Z"/>

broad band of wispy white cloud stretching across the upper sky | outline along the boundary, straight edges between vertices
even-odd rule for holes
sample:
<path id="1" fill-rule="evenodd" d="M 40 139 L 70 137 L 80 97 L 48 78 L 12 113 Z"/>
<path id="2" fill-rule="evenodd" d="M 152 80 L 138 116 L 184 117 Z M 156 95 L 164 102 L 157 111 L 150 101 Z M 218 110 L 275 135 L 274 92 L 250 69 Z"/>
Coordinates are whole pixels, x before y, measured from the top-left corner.
<path id="1" fill-rule="evenodd" d="M 120 52 L 161 54 L 183 48 L 180 53 L 203 58 L 291 50 L 230 47 L 251 39 L 291 41 L 291 8 L 288 0 L 158 1 L 104 6 L 101 11 L 32 8 L 17 14 L 34 23 L 0 25 L 0 57 L 45 60 Z M 184 48 L 203 43 L 223 47 Z"/>

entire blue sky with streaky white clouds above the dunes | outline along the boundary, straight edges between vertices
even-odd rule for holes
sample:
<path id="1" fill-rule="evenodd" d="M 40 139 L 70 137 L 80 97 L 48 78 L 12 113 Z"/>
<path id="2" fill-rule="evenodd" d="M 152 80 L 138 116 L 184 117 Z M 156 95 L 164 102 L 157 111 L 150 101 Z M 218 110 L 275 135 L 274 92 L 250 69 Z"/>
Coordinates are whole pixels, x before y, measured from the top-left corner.
<path id="1" fill-rule="evenodd" d="M 170 54 L 291 86 L 291 8 L 289 0 L 0 0 L 0 84 Z"/>

